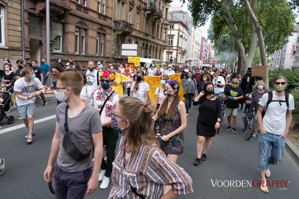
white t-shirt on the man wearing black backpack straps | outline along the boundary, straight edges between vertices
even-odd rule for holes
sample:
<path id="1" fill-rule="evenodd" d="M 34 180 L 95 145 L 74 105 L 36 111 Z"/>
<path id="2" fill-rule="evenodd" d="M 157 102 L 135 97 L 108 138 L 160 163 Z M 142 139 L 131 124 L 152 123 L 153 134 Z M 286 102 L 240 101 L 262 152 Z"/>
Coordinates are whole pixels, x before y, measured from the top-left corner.
<path id="1" fill-rule="evenodd" d="M 272 92 L 272 100 L 280 100 L 275 95 L 275 91 Z M 259 101 L 259 104 L 263 107 L 266 107 L 268 101 L 268 93 L 265 93 L 262 99 Z M 286 96 L 283 96 L 282 101 L 286 100 Z M 280 105 L 281 104 L 281 105 Z M 289 94 L 289 110 L 295 109 L 294 107 L 294 97 Z M 277 135 L 281 135 L 286 130 L 286 113 L 287 106 L 286 102 L 272 101 L 263 118 L 263 127 L 265 131 Z"/>

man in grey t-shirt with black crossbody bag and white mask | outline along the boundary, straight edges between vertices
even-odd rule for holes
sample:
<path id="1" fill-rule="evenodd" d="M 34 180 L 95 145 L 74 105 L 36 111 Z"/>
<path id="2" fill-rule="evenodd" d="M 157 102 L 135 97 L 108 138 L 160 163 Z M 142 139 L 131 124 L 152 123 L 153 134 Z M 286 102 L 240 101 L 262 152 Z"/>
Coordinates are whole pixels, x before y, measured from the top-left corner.
<path id="1" fill-rule="evenodd" d="M 84 198 L 85 193 L 94 193 L 98 186 L 103 155 L 100 116 L 97 109 L 80 99 L 82 75 L 68 71 L 58 73 L 54 80 L 57 80 L 55 96 L 63 103 L 56 108 L 56 128 L 44 179 L 47 182 L 53 180 L 54 167 L 55 198 Z M 75 138 L 70 139 L 71 133 L 76 135 Z"/>

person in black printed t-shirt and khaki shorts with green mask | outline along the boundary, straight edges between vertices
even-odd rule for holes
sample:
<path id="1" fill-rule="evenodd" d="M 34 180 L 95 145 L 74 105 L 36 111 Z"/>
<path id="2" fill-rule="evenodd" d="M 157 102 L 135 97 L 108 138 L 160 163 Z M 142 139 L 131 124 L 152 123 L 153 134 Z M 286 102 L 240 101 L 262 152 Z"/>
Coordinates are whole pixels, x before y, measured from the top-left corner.
<path id="1" fill-rule="evenodd" d="M 231 130 L 233 133 L 236 131 L 237 115 L 239 109 L 239 100 L 243 98 L 242 89 L 239 87 L 239 80 L 237 78 L 231 81 L 231 86 L 225 89 L 223 97 L 228 97 L 230 100 L 226 101 L 226 115 L 228 121 L 227 131 Z M 233 115 L 233 128 L 231 128 L 231 115 Z"/>

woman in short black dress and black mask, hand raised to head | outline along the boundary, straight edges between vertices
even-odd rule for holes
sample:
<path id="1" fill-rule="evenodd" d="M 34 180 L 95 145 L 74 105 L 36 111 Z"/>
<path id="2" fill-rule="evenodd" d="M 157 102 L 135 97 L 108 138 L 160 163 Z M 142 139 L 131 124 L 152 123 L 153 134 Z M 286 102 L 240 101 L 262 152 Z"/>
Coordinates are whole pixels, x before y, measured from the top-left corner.
<path id="1" fill-rule="evenodd" d="M 221 100 L 215 95 L 214 85 L 212 82 L 207 82 L 205 84 L 204 90 L 195 98 L 193 105 L 197 106 L 198 104 L 201 104 L 201 107 L 199 108 L 199 115 L 196 124 L 197 158 L 194 161 L 195 165 L 199 165 L 201 160 L 207 160 L 206 153 L 210 148 L 212 137 L 215 136 L 216 129 L 220 127 L 220 118 L 222 112 Z M 200 114 L 200 112 L 209 114 Z M 205 150 L 202 154 L 204 142 Z"/>

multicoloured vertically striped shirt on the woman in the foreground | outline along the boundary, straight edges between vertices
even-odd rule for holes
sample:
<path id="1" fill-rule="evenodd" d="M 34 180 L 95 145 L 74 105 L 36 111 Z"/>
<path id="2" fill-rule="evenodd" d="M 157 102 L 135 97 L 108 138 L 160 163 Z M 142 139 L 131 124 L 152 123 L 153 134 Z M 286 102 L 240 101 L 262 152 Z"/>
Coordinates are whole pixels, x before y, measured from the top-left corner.
<path id="1" fill-rule="evenodd" d="M 144 198 L 160 198 L 163 186 L 172 185 L 178 195 L 193 192 L 190 176 L 176 163 L 168 160 L 157 145 L 141 144 L 139 152 L 132 152 L 124 168 L 125 136 L 120 140 L 113 164 L 112 188 L 109 198 L 139 198 L 131 191 L 131 186 Z"/>

